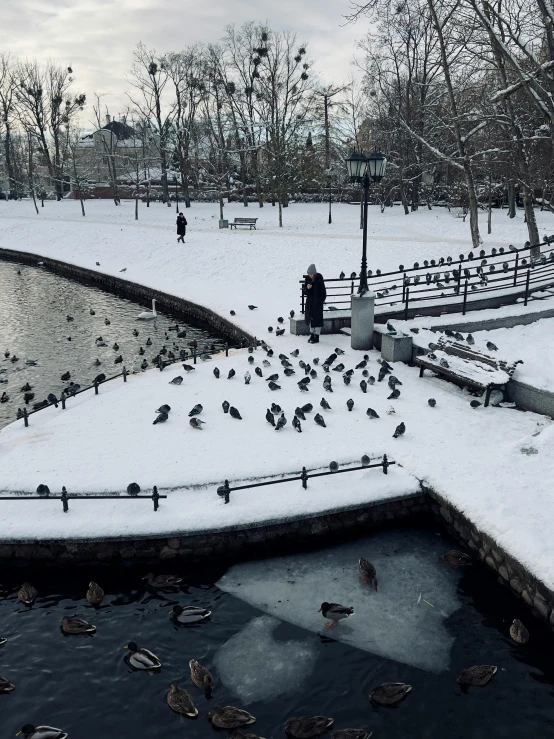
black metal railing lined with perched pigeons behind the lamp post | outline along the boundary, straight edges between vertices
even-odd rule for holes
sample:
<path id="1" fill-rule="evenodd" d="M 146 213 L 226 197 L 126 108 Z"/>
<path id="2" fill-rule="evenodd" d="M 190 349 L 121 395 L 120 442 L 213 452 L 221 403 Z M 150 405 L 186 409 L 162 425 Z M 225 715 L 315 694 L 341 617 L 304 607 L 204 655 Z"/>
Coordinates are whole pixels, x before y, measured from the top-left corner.
<path id="1" fill-rule="evenodd" d="M 526 305 L 532 292 L 554 285 L 554 251 L 548 257 L 545 253 L 552 242 L 554 236 L 545 238 L 534 247 L 528 244 L 519 249 L 510 246 L 508 251 L 503 247 L 494 248 L 488 254 L 482 249 L 478 256 L 470 251 L 467 256 L 460 254 L 457 260 L 441 257 L 425 260 L 423 265 L 415 262 L 413 267 L 401 264 L 398 270 L 391 272 L 378 269 L 373 273 L 368 270 L 368 284 L 375 293 L 376 307 L 396 307 L 397 311 L 404 311 L 406 318 L 410 308 L 425 310 L 425 305 L 431 302 L 440 306 L 457 298 L 462 299 L 462 313 L 465 315 L 472 297 L 488 297 L 501 291 L 507 297 L 522 294 Z M 533 259 L 532 249 L 537 248 L 541 249 L 540 257 Z M 325 284 L 325 310 L 347 310 L 351 296 L 358 290 L 360 275 L 352 272 L 347 277 L 341 273 L 338 278 L 326 279 Z M 300 281 L 300 285 L 303 313 L 307 295 L 305 279 Z"/>

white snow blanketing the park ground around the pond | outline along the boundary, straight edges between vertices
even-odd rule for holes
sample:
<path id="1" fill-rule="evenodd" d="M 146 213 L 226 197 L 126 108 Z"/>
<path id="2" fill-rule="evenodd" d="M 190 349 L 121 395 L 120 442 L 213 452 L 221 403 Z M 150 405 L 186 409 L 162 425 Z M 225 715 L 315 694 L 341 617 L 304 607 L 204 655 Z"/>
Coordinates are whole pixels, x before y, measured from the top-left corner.
<path id="1" fill-rule="evenodd" d="M 312 361 L 338 346 L 346 352 L 339 360 L 346 367 L 360 361 L 363 352 L 352 351 L 344 335 L 323 336 L 318 346 L 311 347 L 288 331 L 279 338 L 267 331 L 278 316 L 287 316 L 290 309 L 298 312 L 298 280 L 310 262 L 315 260 L 327 276 L 357 271 L 359 208 L 334 205 L 334 223 L 329 226 L 326 205 L 293 204 L 284 210 L 285 228 L 278 229 L 276 208 L 251 206 L 246 213 L 259 217 L 259 230 L 231 232 L 217 228 L 216 204 L 194 205 L 187 211 L 184 246 L 176 243 L 174 210 L 160 204 L 149 209 L 141 204 L 138 223 L 133 221 L 131 202 L 116 208 L 111 202 L 89 201 L 86 208 L 88 215 L 82 218 L 78 203 L 48 202 L 35 217 L 28 202 L 2 202 L 0 246 L 107 274 L 118 275 L 126 267 L 127 279 L 209 306 L 225 317 L 233 309 L 237 314 L 233 320 L 271 341 L 275 355 L 298 348 L 300 359 Z M 229 218 L 244 214 L 239 204 L 225 208 Z M 538 212 L 537 218 L 541 232 L 554 231 L 551 214 Z M 495 212 L 493 235 L 483 238 L 485 247 L 522 244 L 527 238 L 522 217 L 511 220 L 504 211 Z M 393 269 L 400 263 L 469 249 L 469 225 L 442 209 L 404 216 L 399 208 L 384 214 L 371 208 L 371 267 Z M 95 267 L 96 261 L 100 267 Z M 248 304 L 259 307 L 250 311 Z M 521 308 L 500 309 L 505 310 L 517 313 Z M 500 340 L 493 341 L 500 345 Z M 264 356 L 258 350 L 254 366 L 261 366 Z M 386 382 L 375 383 L 364 395 L 360 371 L 349 387 L 340 373 L 331 371 L 334 392 L 325 397 L 332 410 L 323 411 L 320 368 L 310 391 L 300 393 L 297 361 L 296 374 L 285 378 L 275 356 L 264 376 L 279 372 L 282 390 L 271 392 L 247 357 L 241 351 L 228 359 L 200 363 L 181 387 L 168 384 L 179 365 L 163 373 L 148 371 L 130 377 L 125 385 L 103 386 L 97 397 L 83 393 L 71 399 L 65 411 L 41 411 L 31 417 L 28 429 L 21 421 L 5 428 L 0 433 L 5 491 L 35 490 L 39 483 L 48 484 L 53 492 L 62 485 L 70 493 L 124 491 L 129 482 L 137 481 L 143 491 L 157 485 L 169 497 L 161 501 L 157 513 L 148 500 L 70 501 L 67 514 L 59 500 L 4 501 L 0 538 L 120 537 L 263 524 L 415 493 L 422 481 L 554 589 L 549 420 L 508 408 L 473 410 L 467 393 L 431 375 L 419 379 L 417 369 L 405 365 L 394 368 L 403 385 L 400 398 L 393 402 L 387 399 Z M 368 369 L 374 376 L 377 358 L 377 352 L 370 353 Z M 212 374 L 215 365 L 221 370 L 219 380 Z M 226 380 L 231 367 L 237 376 Z M 247 369 L 252 373 L 249 385 L 243 381 Z M 427 404 L 430 397 L 437 401 L 435 408 Z M 355 400 L 352 413 L 345 407 L 348 398 Z M 242 421 L 223 414 L 223 400 L 240 410 Z M 198 402 L 204 406 L 203 431 L 188 425 L 188 412 Z M 271 402 L 279 403 L 288 419 L 279 432 L 264 418 Z M 306 402 L 314 404 L 314 413 L 297 434 L 291 427 L 294 409 Z M 172 407 L 169 421 L 153 426 L 154 411 L 162 403 Z M 391 405 L 396 413 L 388 415 Z M 368 406 L 379 419 L 368 420 Z M 327 428 L 314 423 L 316 411 L 325 417 Z M 406 433 L 393 439 L 401 421 Z M 536 453 L 528 452 L 530 446 Z M 324 469 L 331 460 L 355 464 L 364 453 L 373 458 L 386 453 L 398 464 L 387 476 L 369 470 L 317 478 L 307 491 L 299 483 L 283 483 L 234 492 L 229 505 L 215 492 L 226 478 L 233 485 L 298 473 L 304 465 Z"/>

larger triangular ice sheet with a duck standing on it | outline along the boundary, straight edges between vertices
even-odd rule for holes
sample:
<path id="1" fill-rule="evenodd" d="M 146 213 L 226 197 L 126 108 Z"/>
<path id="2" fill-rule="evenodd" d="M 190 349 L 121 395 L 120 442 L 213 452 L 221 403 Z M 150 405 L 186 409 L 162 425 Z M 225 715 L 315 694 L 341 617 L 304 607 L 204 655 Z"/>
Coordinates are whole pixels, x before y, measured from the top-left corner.
<path id="1" fill-rule="evenodd" d="M 238 564 L 218 586 L 284 621 L 441 672 L 449 667 L 454 641 L 445 620 L 460 607 L 460 573 L 439 563 L 441 554 L 442 540 L 427 533 L 382 532 L 318 552 Z M 377 593 L 358 573 L 360 556 L 377 569 Z M 354 615 L 324 628 L 317 612 L 324 601 L 353 606 Z"/>

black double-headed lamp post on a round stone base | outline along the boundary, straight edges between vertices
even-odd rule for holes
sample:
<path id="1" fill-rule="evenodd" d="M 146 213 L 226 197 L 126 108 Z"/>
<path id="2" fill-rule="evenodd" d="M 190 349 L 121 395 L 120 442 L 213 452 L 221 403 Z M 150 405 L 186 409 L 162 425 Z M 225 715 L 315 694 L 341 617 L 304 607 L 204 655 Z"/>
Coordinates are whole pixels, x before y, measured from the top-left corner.
<path id="1" fill-rule="evenodd" d="M 386 156 L 377 149 L 369 157 L 366 157 L 363 152 L 353 151 L 346 159 L 350 181 L 362 183 L 364 190 L 360 286 L 358 295 L 352 296 L 351 303 L 351 345 L 353 349 L 371 349 L 373 347 L 375 296 L 369 292 L 367 284 L 367 200 L 370 178 L 373 182 L 381 182 L 386 166 Z"/>

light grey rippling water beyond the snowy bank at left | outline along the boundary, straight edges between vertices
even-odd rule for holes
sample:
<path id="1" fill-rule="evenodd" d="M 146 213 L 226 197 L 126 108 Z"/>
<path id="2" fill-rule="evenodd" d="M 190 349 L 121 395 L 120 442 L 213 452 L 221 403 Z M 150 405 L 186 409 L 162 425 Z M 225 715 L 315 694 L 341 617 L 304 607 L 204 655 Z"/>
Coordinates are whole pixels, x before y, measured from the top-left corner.
<path id="1" fill-rule="evenodd" d="M 94 316 L 90 315 L 91 309 Z M 7 403 L 0 403 L 0 428 L 15 420 L 17 409 L 25 405 L 21 388 L 26 383 L 35 393 L 27 405 L 27 410 L 31 410 L 50 392 L 60 396 L 69 384 L 61 380 L 65 372 L 70 372 L 71 381 L 84 387 L 101 372 L 106 377 L 121 372 L 123 364 L 114 363 L 119 355 L 131 369 L 137 360 L 146 359 L 150 365 L 164 344 L 178 356 L 174 342 L 187 349 L 189 341 L 196 340 L 203 346 L 206 341 L 221 340 L 181 321 L 179 327 L 187 331 L 187 336 L 179 339 L 176 331 L 168 331 L 169 326 L 176 324 L 174 316 L 159 313 L 155 325 L 136 321 L 143 310 L 143 306 L 131 300 L 40 267 L 0 260 L 0 396 L 6 392 L 9 397 Z M 68 315 L 73 321 L 67 320 Z M 106 318 L 109 326 L 105 325 Z M 133 329 L 138 330 L 138 337 L 133 336 Z M 95 339 L 99 336 L 107 347 L 96 347 Z M 150 347 L 146 345 L 148 337 L 152 340 Z M 114 343 L 119 345 L 118 350 L 112 348 Z M 139 355 L 141 346 L 145 350 L 143 356 Z M 4 357 L 6 351 L 11 355 L 8 359 Z M 12 363 L 14 354 L 19 361 Z M 37 366 L 26 366 L 26 358 L 36 359 Z M 99 367 L 93 364 L 96 359 L 101 361 Z M 8 382 L 2 382 L 6 377 Z"/>

